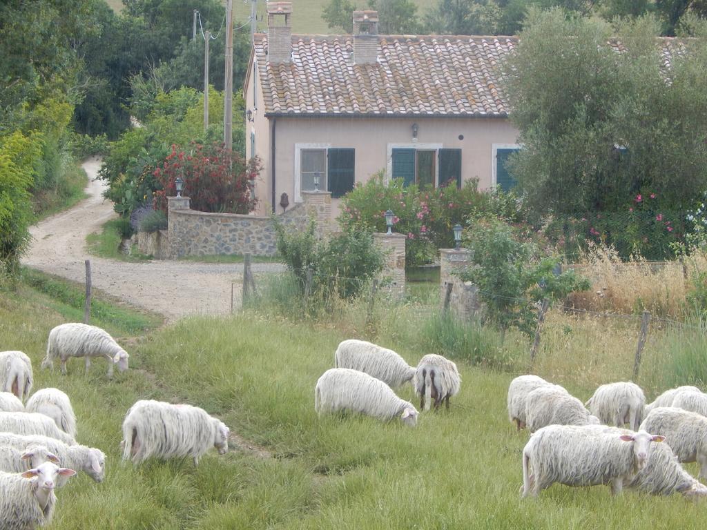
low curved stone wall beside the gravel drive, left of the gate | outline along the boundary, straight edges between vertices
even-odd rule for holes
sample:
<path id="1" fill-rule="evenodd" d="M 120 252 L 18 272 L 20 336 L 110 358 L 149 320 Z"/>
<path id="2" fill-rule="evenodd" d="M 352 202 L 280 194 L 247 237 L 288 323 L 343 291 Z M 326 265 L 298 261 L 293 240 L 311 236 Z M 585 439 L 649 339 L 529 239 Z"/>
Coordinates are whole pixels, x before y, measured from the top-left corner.
<path id="1" fill-rule="evenodd" d="M 304 202 L 277 216 L 284 225 L 304 230 L 315 218 L 322 234 L 332 230 L 332 196 L 329 192 L 303 192 Z M 168 252 L 170 259 L 213 254 L 274 256 L 276 237 L 267 216 L 207 213 L 189 208 L 188 197 L 168 199 Z"/>

